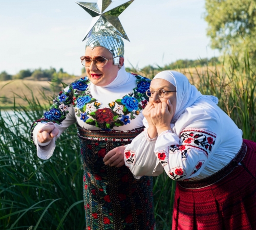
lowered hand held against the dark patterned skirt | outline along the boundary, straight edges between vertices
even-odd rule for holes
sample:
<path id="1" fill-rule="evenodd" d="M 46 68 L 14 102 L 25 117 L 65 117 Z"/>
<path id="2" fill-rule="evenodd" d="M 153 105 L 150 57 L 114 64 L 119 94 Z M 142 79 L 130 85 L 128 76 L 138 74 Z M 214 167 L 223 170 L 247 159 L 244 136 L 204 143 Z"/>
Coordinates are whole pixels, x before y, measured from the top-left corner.
<path id="1" fill-rule="evenodd" d="M 103 158 L 105 165 L 117 168 L 124 165 L 124 150 L 125 146 L 119 146 L 109 151 Z"/>

